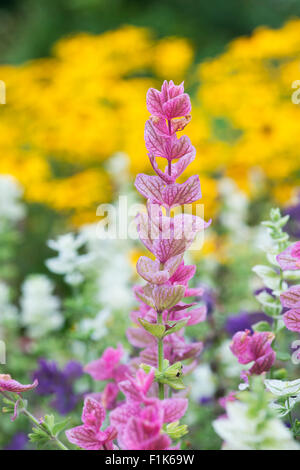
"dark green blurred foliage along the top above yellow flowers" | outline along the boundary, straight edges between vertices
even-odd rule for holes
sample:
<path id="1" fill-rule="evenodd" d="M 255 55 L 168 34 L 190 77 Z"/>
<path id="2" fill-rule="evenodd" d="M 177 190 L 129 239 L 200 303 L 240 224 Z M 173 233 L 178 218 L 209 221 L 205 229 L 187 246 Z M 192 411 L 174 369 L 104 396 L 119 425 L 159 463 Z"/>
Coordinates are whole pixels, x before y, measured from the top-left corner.
<path id="1" fill-rule="evenodd" d="M 190 38 L 201 59 L 259 25 L 277 28 L 300 15 L 298 0 L 1 0 L 0 8 L 1 61 L 8 63 L 48 55 L 61 36 L 122 24 Z"/>

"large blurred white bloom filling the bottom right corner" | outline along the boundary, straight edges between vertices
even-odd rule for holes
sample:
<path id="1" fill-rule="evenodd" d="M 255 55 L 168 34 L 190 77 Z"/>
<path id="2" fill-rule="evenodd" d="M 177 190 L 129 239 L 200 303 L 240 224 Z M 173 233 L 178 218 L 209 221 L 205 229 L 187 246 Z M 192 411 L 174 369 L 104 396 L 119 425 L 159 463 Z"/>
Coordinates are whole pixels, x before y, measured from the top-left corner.
<path id="1" fill-rule="evenodd" d="M 239 401 L 226 406 L 227 417 L 213 422 L 216 433 L 224 440 L 225 450 L 299 450 L 290 430 L 277 418 L 261 410 L 257 416 Z"/>

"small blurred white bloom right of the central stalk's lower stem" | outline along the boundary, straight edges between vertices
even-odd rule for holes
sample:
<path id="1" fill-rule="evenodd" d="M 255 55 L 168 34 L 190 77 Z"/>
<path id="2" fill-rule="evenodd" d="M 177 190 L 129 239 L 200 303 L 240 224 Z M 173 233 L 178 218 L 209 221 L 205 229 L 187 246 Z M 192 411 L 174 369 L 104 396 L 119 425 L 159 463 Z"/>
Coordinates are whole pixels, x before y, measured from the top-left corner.
<path id="1" fill-rule="evenodd" d="M 193 372 L 191 397 L 196 400 L 211 398 L 216 391 L 214 374 L 208 364 L 201 364 Z"/>

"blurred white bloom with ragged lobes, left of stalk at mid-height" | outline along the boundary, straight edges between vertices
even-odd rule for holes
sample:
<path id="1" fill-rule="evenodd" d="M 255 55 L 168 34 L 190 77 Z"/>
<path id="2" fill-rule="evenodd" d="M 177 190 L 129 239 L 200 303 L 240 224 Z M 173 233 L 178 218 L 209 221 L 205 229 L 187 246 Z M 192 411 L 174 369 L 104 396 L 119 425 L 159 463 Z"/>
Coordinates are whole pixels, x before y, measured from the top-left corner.
<path id="1" fill-rule="evenodd" d="M 48 246 L 58 251 L 58 256 L 46 261 L 47 268 L 53 273 L 63 274 L 68 284 L 80 284 L 84 280 L 84 271 L 93 261 L 91 254 L 78 253 L 84 244 L 85 238 L 81 235 L 76 237 L 73 233 L 61 235 L 57 240 L 49 240 Z"/>

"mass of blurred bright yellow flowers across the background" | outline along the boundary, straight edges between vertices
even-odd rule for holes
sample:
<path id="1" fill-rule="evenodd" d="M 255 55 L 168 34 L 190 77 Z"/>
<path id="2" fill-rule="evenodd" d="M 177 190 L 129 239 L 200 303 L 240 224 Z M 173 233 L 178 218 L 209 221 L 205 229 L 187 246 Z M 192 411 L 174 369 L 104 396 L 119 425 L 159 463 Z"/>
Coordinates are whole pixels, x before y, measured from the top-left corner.
<path id="1" fill-rule="evenodd" d="M 108 158 L 126 152 L 132 178 L 150 170 L 147 89 L 163 79 L 194 87 L 196 79 L 187 133 L 197 158 L 189 172 L 200 174 L 206 218 L 217 210 L 222 175 L 253 195 L 255 175 L 263 174 L 285 202 L 299 184 L 300 108 L 291 100 L 300 79 L 299 28 L 300 20 L 259 28 L 200 64 L 196 76 L 188 40 L 157 40 L 134 26 L 70 36 L 50 58 L 1 66 L 7 104 L 0 107 L 0 172 L 18 178 L 29 201 L 63 211 L 75 224 L 95 220 L 96 206 L 113 198 Z"/>

